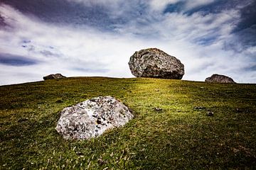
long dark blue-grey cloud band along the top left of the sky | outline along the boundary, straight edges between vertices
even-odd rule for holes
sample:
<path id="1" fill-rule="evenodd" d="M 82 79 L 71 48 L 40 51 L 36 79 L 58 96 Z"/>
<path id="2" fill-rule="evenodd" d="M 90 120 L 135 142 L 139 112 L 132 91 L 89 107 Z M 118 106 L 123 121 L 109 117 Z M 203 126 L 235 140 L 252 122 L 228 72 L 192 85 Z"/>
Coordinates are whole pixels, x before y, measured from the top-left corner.
<path id="1" fill-rule="evenodd" d="M 105 6 L 84 6 L 65 0 L 4 0 L 22 13 L 30 14 L 49 23 L 71 24 L 73 26 L 95 26 L 109 29 L 121 19 L 111 19 Z"/>

